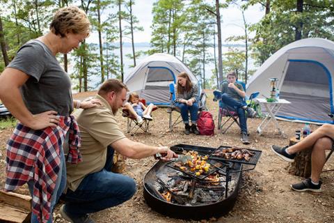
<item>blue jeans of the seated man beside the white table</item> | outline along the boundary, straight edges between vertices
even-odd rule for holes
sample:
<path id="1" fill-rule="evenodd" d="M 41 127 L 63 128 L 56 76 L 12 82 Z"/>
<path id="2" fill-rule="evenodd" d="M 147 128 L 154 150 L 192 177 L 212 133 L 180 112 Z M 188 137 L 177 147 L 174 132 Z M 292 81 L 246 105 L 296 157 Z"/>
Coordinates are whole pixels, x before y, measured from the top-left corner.
<path id="1" fill-rule="evenodd" d="M 227 93 L 223 93 L 221 95 L 221 100 L 225 105 L 228 106 L 229 109 L 232 109 L 238 113 L 241 132 L 247 133 L 245 109 L 242 108 L 246 105 L 246 103 L 231 98 Z"/>

